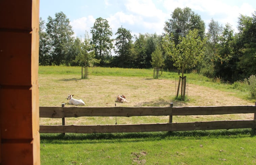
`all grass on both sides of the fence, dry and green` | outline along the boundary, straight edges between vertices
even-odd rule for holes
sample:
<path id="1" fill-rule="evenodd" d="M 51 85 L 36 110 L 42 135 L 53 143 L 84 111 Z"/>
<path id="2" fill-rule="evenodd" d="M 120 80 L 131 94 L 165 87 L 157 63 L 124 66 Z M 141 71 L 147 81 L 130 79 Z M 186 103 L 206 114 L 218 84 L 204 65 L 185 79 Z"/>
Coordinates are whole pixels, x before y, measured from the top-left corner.
<path id="1" fill-rule="evenodd" d="M 68 105 L 68 94 L 82 99 L 86 107 L 114 107 L 117 94 L 124 94 L 125 107 L 254 105 L 245 91 L 216 83 L 199 74 L 186 74 L 188 100 L 174 99 L 177 73 L 153 70 L 89 68 L 81 79 L 80 67 L 40 66 L 40 106 Z M 252 119 L 253 114 L 175 116 L 173 122 Z M 168 116 L 118 117 L 117 123 L 167 122 Z M 67 125 L 114 124 L 114 117 L 66 119 Z M 40 118 L 41 125 L 61 125 L 61 119 Z M 156 132 L 126 134 L 41 134 L 41 164 L 255 164 L 256 138 L 249 129 Z"/>

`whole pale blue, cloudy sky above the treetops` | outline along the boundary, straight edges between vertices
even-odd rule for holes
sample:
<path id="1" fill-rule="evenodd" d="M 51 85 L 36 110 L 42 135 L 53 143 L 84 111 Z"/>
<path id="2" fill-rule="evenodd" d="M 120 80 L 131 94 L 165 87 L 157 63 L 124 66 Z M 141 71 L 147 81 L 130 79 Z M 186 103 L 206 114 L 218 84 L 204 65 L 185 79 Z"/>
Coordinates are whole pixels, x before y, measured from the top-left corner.
<path id="1" fill-rule="evenodd" d="M 165 22 L 177 7 L 189 7 L 201 16 L 206 31 L 210 20 L 225 27 L 231 24 L 237 32 L 237 21 L 241 15 L 252 17 L 256 11 L 255 0 L 40 0 L 39 17 L 47 23 L 50 16 L 62 11 L 70 21 L 74 36 L 91 37 L 91 27 L 99 17 L 108 20 L 113 32 L 123 27 L 132 35 L 162 34 Z"/>

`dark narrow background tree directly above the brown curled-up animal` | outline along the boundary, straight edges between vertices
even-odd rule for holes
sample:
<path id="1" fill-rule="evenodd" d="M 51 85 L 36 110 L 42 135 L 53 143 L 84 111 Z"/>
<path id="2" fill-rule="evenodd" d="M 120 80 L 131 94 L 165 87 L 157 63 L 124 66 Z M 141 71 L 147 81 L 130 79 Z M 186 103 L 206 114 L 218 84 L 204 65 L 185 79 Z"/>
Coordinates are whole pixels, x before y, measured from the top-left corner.
<path id="1" fill-rule="evenodd" d="M 118 58 L 118 67 L 129 67 L 131 62 L 131 47 L 132 47 L 132 35 L 130 30 L 127 30 L 123 27 L 117 29 L 115 33 L 116 43 L 115 53 Z"/>

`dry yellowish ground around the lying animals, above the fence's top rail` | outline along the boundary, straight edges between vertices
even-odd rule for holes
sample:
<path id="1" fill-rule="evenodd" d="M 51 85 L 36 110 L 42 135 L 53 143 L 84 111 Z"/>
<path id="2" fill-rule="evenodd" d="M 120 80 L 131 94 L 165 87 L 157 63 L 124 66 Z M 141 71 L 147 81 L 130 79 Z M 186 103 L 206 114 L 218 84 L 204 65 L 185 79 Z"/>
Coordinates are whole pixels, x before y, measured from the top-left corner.
<path id="1" fill-rule="evenodd" d="M 69 75 L 39 76 L 40 106 L 68 105 L 68 94 L 75 99 L 82 99 L 86 107 L 113 107 L 116 96 L 123 94 L 129 103 L 116 103 L 117 106 L 225 106 L 252 105 L 252 103 L 234 97 L 230 92 L 213 88 L 187 84 L 188 102 L 175 102 L 175 81 L 169 79 L 151 79 L 139 77 L 90 76 L 79 79 Z"/>

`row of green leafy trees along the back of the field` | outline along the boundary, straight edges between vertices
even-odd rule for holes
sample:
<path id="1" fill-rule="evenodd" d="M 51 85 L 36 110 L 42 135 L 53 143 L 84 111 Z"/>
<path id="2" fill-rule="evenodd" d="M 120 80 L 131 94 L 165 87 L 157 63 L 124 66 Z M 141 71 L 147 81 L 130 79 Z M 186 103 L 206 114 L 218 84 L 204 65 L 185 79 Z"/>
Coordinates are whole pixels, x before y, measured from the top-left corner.
<path id="1" fill-rule="evenodd" d="M 108 21 L 101 17 L 91 27 L 92 37 L 85 32 L 84 39 L 72 36 L 63 12 L 49 16 L 47 22 L 40 18 L 39 64 L 196 70 L 229 82 L 256 74 L 256 12 L 239 16 L 237 33 L 230 24 L 223 27 L 213 19 L 205 33 L 201 16 L 188 7 L 178 7 L 170 16 L 161 35 L 132 36 L 121 26 L 114 39 Z"/>

